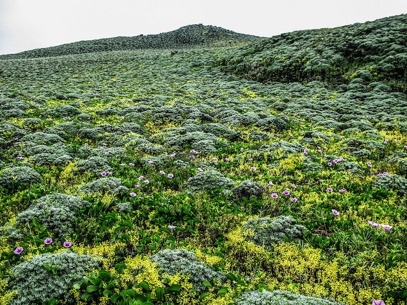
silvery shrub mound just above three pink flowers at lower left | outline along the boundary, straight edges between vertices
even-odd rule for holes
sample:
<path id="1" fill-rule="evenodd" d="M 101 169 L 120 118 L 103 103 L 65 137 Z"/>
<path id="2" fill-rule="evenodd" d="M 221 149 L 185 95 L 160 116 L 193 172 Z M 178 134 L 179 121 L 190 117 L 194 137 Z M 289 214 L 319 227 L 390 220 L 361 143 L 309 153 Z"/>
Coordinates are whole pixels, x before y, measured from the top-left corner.
<path id="1" fill-rule="evenodd" d="M 86 207 L 89 202 L 66 194 L 52 194 L 41 197 L 17 216 L 15 226 L 9 227 L 7 233 L 14 238 L 28 234 L 27 222 L 38 219 L 54 236 L 69 236 L 73 233 L 75 211 Z"/>

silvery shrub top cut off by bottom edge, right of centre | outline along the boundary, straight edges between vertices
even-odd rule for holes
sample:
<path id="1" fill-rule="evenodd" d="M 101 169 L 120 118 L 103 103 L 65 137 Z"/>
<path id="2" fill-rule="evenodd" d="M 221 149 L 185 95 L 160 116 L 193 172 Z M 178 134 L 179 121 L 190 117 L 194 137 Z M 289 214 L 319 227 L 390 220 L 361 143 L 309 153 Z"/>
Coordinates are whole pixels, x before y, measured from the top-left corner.
<path id="1" fill-rule="evenodd" d="M 334 300 L 298 295 L 288 291 L 246 291 L 235 300 L 236 305 L 340 305 Z"/>

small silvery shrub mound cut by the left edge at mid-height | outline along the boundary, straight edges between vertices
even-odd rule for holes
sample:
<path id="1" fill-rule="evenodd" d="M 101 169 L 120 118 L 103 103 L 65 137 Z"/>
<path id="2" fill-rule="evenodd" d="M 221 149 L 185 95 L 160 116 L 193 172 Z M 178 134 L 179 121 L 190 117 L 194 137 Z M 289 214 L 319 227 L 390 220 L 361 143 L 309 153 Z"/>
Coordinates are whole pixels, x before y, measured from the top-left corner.
<path id="1" fill-rule="evenodd" d="M 2 170 L 0 173 L 0 186 L 6 188 L 19 182 L 21 184 L 35 184 L 42 180 L 41 175 L 28 166 L 14 166 Z"/>

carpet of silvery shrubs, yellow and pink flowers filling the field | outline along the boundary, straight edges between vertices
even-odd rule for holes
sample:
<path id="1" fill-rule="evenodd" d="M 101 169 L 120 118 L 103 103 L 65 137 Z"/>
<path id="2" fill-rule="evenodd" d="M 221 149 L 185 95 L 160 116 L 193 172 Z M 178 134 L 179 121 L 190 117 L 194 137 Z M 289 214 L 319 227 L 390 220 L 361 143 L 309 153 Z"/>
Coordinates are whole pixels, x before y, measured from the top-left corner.
<path id="1" fill-rule="evenodd" d="M 405 21 L 308 78 L 245 64 L 286 36 L 0 60 L 0 303 L 405 305 Z"/>

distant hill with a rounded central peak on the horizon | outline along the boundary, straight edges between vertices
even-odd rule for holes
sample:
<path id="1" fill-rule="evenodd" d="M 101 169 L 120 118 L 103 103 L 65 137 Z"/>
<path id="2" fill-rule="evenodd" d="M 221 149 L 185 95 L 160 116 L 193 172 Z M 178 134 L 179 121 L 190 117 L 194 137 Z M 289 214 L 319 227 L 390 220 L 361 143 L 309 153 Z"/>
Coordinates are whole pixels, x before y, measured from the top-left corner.
<path id="1" fill-rule="evenodd" d="M 134 37 L 114 37 L 79 41 L 55 47 L 24 51 L 16 54 L 0 55 L 0 59 L 51 57 L 135 49 L 186 48 L 199 45 L 222 45 L 228 44 L 229 42 L 255 41 L 259 39 L 261 39 L 261 37 L 239 34 L 222 27 L 193 24 L 180 27 L 175 31 L 157 35 L 139 35 Z"/>

